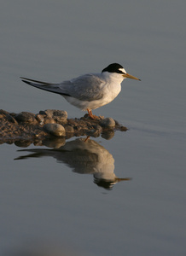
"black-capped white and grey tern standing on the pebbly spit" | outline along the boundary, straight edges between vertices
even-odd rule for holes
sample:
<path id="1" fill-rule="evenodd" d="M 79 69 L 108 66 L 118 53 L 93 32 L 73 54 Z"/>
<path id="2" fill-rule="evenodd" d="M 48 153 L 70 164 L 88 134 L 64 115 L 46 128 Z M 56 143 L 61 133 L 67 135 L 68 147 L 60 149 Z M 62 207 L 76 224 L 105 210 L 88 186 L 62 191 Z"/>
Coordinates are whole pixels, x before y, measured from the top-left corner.
<path id="1" fill-rule="evenodd" d="M 87 73 L 76 79 L 57 84 L 26 78 L 20 79 L 39 89 L 60 94 L 73 106 L 84 111 L 87 110 L 92 119 L 95 119 L 92 109 L 112 102 L 119 95 L 121 82 L 124 79 L 140 80 L 126 73 L 125 68 L 118 63 L 108 65 L 102 70 L 102 73 Z"/>

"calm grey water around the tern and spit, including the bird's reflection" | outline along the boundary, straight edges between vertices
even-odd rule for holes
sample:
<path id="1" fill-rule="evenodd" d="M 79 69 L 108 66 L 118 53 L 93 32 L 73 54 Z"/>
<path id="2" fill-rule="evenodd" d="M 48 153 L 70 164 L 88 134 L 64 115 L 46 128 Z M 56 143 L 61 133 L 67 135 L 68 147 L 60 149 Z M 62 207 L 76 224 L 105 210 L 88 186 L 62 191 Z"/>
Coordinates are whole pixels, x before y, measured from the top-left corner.
<path id="1" fill-rule="evenodd" d="M 60 82 L 119 62 L 142 82 L 126 79 L 94 111 L 129 130 L 90 138 L 85 155 L 73 153 L 77 138 L 68 154 L 0 146 L 1 252 L 41 241 L 83 255 L 185 255 L 185 8 L 181 0 L 2 1 L 4 110 L 84 114 L 20 76 Z M 108 174 L 124 180 L 106 189 Z"/>

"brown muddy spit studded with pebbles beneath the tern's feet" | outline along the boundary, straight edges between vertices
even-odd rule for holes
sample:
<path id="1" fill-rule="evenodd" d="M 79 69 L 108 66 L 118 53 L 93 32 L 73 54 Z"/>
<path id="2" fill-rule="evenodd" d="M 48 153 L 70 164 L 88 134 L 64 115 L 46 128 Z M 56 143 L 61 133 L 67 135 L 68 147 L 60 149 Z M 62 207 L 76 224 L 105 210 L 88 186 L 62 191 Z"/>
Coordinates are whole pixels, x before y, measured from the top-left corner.
<path id="1" fill-rule="evenodd" d="M 79 136 L 105 137 L 110 139 L 114 131 L 127 131 L 112 118 L 90 119 L 88 114 L 80 119 L 67 119 L 67 112 L 47 109 L 39 113 L 9 113 L 0 110 L 0 143 L 30 141 L 32 143 L 50 138 Z"/>

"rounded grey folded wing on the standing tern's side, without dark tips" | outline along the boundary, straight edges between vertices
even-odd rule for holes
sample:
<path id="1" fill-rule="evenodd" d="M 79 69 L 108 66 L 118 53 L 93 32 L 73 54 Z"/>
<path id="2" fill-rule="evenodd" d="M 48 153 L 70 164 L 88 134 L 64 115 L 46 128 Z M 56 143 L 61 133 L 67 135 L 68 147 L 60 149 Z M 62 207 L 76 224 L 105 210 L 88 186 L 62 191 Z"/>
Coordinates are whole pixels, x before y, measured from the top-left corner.
<path id="1" fill-rule="evenodd" d="M 67 91 L 70 96 L 73 96 L 80 101 L 96 101 L 101 99 L 103 96 L 102 86 L 105 83 L 94 74 L 86 74 L 78 77 L 77 79 L 72 79 L 71 83 L 72 84 L 67 86 Z"/>

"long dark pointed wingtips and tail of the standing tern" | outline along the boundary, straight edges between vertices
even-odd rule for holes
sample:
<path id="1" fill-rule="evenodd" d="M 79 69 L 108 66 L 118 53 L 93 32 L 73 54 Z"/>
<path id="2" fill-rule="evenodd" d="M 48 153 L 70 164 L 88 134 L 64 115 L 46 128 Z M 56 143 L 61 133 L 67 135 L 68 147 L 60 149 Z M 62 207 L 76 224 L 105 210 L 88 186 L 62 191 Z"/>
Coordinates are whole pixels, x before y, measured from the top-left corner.
<path id="1" fill-rule="evenodd" d="M 70 81 L 65 81 L 63 82 L 63 86 L 61 84 L 52 84 L 52 83 L 46 83 L 38 80 L 33 80 L 33 79 L 26 79 L 26 78 L 20 78 L 22 81 L 26 84 L 30 84 L 38 89 L 41 90 L 48 90 L 57 94 L 60 94 L 61 96 L 71 96 L 65 89 L 67 85 L 70 85 Z M 66 85 L 66 86 L 65 86 Z M 63 88 L 64 87 L 64 88 Z"/>

